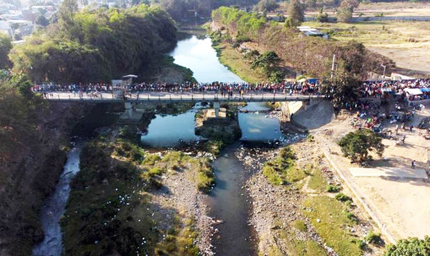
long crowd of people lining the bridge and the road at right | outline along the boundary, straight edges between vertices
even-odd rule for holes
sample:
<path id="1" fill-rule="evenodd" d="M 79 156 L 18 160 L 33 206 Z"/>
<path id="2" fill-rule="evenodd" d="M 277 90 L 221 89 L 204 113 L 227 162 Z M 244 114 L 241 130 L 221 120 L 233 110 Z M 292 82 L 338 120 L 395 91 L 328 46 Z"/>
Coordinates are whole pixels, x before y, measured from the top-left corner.
<path id="1" fill-rule="evenodd" d="M 34 85 L 34 92 L 113 92 L 121 85 L 110 85 L 106 83 L 95 84 L 73 84 L 56 85 L 44 84 Z M 408 95 L 405 89 L 417 88 L 421 90 L 419 95 Z M 283 94 L 303 94 L 322 95 L 322 85 L 318 81 L 309 83 L 308 81 L 282 82 L 282 83 L 135 83 L 126 85 L 129 93 L 144 92 L 217 92 L 224 95 L 231 95 L 233 92 L 246 94 L 248 92 L 279 92 Z M 365 81 L 361 84 L 360 90 L 363 98 L 386 97 L 390 94 L 401 94 L 409 100 L 430 99 L 430 78 L 412 80 L 383 80 Z"/>

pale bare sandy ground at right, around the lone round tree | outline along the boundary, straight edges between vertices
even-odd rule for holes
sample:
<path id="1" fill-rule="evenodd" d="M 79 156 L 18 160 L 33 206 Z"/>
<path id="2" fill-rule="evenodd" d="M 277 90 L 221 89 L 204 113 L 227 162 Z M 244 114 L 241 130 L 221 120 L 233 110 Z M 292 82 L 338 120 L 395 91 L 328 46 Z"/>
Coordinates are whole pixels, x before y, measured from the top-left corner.
<path id="1" fill-rule="evenodd" d="M 422 117 L 430 116 L 430 106 L 420 110 L 413 119 L 414 126 Z M 351 126 L 352 117 L 338 116 L 331 123 L 312 130 L 315 140 L 320 144 L 324 155 L 338 171 L 345 183 L 352 189 L 361 203 L 370 212 L 388 241 L 407 237 L 423 238 L 430 234 L 430 182 L 429 179 L 390 177 L 354 177 L 349 171 L 351 167 L 358 167 L 342 156 L 338 139 L 354 130 Z M 406 134 L 404 146 L 395 146 L 393 141 L 384 140 L 388 147 L 383 157 L 388 157 L 388 165 L 402 169 L 409 169 L 412 160 L 417 161 L 417 167 L 424 167 L 427 162 L 427 150 L 430 143 L 425 140 L 418 130 Z M 380 166 L 381 161 L 374 161 Z"/>

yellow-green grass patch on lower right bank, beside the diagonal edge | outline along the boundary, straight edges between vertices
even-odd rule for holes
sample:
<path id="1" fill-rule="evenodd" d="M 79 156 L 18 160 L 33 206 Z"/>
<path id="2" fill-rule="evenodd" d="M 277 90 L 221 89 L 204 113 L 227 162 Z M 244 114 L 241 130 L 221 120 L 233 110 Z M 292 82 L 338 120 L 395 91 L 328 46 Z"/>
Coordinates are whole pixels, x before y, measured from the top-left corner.
<path id="1" fill-rule="evenodd" d="M 347 225 L 356 225 L 346 216 L 345 205 L 328 196 L 315 196 L 305 200 L 304 206 L 306 207 L 304 214 L 317 233 L 338 255 L 361 255 L 361 249 L 353 242 L 354 236 L 345 228 Z"/>

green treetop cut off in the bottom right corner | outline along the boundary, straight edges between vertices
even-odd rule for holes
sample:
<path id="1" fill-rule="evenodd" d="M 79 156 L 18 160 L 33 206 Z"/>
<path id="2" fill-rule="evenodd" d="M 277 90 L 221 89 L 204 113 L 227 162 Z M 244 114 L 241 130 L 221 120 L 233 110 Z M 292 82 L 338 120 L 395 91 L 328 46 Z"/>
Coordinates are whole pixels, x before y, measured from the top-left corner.
<path id="1" fill-rule="evenodd" d="M 430 237 L 402 239 L 397 244 L 389 244 L 384 256 L 428 256 L 430 255 Z"/>

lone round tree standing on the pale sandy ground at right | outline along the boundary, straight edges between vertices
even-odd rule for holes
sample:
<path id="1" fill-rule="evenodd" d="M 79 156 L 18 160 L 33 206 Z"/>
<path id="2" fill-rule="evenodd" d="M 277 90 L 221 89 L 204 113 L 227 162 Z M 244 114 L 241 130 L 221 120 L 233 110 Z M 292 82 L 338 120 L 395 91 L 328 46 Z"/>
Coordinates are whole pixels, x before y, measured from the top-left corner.
<path id="1" fill-rule="evenodd" d="M 350 157 L 354 162 L 365 162 L 368 160 L 369 151 L 377 151 L 379 155 L 383 152 L 382 138 L 372 130 L 356 130 L 348 133 L 338 142 L 342 148 L 342 153 Z"/>

